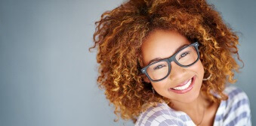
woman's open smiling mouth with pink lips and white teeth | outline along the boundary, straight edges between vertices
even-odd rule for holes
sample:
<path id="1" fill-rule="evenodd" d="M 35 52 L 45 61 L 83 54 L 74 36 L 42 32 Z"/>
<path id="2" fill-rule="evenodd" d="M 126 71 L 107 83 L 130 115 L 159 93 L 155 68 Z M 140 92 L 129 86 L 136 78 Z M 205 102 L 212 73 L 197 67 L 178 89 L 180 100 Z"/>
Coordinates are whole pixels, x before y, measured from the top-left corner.
<path id="1" fill-rule="evenodd" d="M 196 77 L 194 76 L 190 80 L 185 81 L 184 83 L 180 84 L 179 86 L 170 88 L 169 90 L 171 92 L 175 92 L 177 94 L 184 94 L 184 93 L 190 92 L 190 90 L 193 89 L 195 80 L 196 80 Z"/>

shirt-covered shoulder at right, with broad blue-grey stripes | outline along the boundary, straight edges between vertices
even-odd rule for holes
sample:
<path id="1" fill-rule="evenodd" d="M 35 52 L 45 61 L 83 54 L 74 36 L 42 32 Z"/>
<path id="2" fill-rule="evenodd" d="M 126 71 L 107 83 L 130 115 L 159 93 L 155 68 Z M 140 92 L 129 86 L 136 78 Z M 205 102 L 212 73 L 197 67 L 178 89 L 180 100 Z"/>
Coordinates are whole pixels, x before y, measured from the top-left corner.
<path id="1" fill-rule="evenodd" d="M 222 101 L 222 118 L 226 125 L 251 125 L 251 110 L 248 96 L 236 86 L 227 86 L 224 93 L 227 101 Z"/>

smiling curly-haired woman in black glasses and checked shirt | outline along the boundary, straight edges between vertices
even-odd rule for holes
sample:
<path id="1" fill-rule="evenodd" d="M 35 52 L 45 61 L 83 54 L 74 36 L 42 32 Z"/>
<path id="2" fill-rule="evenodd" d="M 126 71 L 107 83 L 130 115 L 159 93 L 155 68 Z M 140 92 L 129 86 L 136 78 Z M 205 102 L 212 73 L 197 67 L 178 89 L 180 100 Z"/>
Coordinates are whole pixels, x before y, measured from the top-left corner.
<path id="1" fill-rule="evenodd" d="M 116 121 L 120 113 L 135 125 L 251 125 L 247 95 L 229 85 L 239 37 L 213 5 L 130 0 L 96 25 L 97 82 Z"/>

